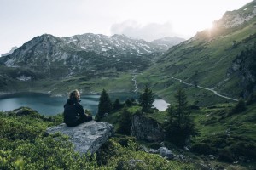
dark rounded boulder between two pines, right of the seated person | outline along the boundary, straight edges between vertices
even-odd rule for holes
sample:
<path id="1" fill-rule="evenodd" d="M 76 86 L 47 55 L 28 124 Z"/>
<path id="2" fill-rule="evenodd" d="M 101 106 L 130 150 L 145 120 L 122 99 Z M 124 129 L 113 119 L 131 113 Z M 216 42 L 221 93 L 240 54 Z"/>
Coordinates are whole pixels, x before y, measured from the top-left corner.
<path id="1" fill-rule="evenodd" d="M 164 139 L 164 133 L 159 123 L 143 115 L 132 116 L 131 135 L 137 139 L 145 139 L 151 142 Z"/>

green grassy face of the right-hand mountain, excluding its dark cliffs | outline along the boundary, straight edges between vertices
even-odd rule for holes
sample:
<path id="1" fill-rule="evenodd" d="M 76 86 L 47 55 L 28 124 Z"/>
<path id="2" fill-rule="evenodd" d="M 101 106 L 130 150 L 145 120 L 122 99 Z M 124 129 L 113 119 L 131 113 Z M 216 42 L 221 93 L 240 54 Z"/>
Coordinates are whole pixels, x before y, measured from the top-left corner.
<path id="1" fill-rule="evenodd" d="M 256 19 L 253 19 L 228 32 L 221 32 L 220 28 L 201 31 L 195 40 L 171 48 L 154 66 L 138 75 L 138 86 L 142 88 L 149 84 L 156 94 L 172 102 L 172 92 L 180 84 L 170 78 L 173 76 L 183 79 L 184 82 L 196 81 L 200 86 L 215 88 L 220 94 L 237 99 L 245 87 L 239 86 L 240 77 L 227 76 L 227 73 L 236 55 L 240 54 L 241 50 L 253 47 L 255 37 L 248 41 L 246 38 L 256 34 L 255 21 Z M 237 46 L 233 47 L 235 40 Z M 189 88 L 188 94 L 191 94 L 191 101 L 209 100 L 208 105 L 225 101 L 218 97 L 212 99 L 213 94 L 201 89 Z"/>

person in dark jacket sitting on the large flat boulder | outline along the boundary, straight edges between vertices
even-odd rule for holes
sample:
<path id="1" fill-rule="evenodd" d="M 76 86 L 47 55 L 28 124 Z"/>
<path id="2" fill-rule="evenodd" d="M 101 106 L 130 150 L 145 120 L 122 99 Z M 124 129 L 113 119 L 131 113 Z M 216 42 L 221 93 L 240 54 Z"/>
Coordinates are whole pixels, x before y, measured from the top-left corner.
<path id="1" fill-rule="evenodd" d="M 92 120 L 92 116 L 84 113 L 84 108 L 80 102 L 79 90 L 74 90 L 69 94 L 69 99 L 64 105 L 64 122 L 68 127 L 75 127 L 83 122 Z"/>

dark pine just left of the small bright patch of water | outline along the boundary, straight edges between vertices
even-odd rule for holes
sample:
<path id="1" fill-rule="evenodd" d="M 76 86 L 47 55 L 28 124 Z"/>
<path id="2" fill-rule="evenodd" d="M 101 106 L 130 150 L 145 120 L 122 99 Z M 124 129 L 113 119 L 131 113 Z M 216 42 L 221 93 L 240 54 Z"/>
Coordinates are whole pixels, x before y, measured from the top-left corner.
<path id="1" fill-rule="evenodd" d="M 144 93 L 139 97 L 139 103 L 142 105 L 142 112 L 149 112 L 154 102 L 154 93 L 148 86 L 144 89 Z"/>

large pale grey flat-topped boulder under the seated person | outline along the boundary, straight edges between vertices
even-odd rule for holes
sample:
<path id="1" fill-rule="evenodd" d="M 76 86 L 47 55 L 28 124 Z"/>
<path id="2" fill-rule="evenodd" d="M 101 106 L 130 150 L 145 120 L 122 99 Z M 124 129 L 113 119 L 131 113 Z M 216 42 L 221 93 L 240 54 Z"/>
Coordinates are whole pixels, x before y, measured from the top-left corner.
<path id="1" fill-rule="evenodd" d="M 84 122 L 77 127 L 65 123 L 49 127 L 47 133 L 62 133 L 70 137 L 79 153 L 95 153 L 113 135 L 113 125 L 107 122 Z"/>

